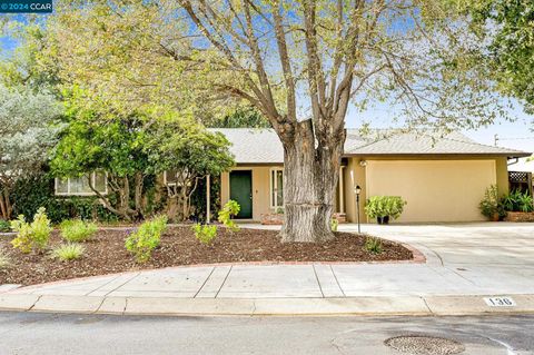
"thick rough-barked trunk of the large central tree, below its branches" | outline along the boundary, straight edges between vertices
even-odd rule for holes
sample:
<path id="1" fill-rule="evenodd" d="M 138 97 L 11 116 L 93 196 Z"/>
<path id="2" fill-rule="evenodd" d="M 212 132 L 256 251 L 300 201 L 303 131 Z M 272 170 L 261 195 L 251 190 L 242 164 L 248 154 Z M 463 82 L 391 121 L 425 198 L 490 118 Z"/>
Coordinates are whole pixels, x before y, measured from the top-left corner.
<path id="1" fill-rule="evenodd" d="M 325 241 L 330 228 L 339 178 L 343 137 L 315 145 L 310 122 L 296 127 L 295 138 L 284 141 L 283 241 Z"/>

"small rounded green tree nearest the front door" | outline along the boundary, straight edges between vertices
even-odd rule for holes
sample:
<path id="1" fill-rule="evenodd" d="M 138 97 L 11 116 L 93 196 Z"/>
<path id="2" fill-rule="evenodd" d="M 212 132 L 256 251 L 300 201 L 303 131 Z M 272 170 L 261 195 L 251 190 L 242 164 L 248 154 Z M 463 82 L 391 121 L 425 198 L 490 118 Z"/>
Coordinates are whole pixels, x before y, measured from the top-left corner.
<path id="1" fill-rule="evenodd" d="M 191 215 L 191 196 L 199 179 L 220 175 L 234 166 L 228 140 L 189 120 L 167 120 L 156 125 L 147 144 L 150 167 L 167 172 L 167 194 L 176 206 L 169 217 L 186 220 Z M 172 176 L 170 176 L 172 175 Z"/>

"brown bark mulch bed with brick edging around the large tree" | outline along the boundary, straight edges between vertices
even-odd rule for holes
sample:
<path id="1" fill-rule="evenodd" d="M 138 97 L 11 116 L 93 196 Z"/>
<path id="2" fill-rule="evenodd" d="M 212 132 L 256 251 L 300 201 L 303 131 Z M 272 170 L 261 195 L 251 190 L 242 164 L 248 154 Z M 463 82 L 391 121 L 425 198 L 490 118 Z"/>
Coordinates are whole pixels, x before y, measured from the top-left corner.
<path id="1" fill-rule="evenodd" d="M 10 266 L 0 269 L 1 284 L 32 285 L 76 277 L 105 275 L 169 266 L 243 263 L 243 262 L 377 262 L 409 260 L 412 252 L 402 245 L 383 240 L 383 253 L 375 255 L 364 250 L 365 237 L 336 233 L 334 240 L 281 244 L 275 230 L 241 229 L 228 233 L 219 228 L 217 239 L 210 246 L 200 244 L 189 227 L 169 228 L 161 237 L 161 245 L 152 258 L 137 264 L 125 248 L 127 230 L 100 230 L 86 241 L 82 258 L 72 262 L 51 259 L 47 254 L 22 254 L 11 247 L 11 238 L 0 237 L 0 252 L 7 254 Z M 50 248 L 61 244 L 57 231 L 50 238 Z"/>

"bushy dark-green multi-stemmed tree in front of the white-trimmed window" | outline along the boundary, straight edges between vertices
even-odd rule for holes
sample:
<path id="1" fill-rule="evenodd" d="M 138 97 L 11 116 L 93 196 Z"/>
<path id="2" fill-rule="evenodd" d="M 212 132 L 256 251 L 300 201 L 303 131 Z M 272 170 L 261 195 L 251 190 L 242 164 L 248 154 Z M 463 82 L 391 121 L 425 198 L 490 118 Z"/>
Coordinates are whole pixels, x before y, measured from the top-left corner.
<path id="1" fill-rule="evenodd" d="M 103 206 L 127 220 L 144 216 L 144 181 L 148 157 L 144 150 L 144 115 L 111 116 L 69 103 L 69 126 L 53 151 L 57 176 L 81 177 L 106 171 L 112 194 L 103 195 L 89 179 Z"/>

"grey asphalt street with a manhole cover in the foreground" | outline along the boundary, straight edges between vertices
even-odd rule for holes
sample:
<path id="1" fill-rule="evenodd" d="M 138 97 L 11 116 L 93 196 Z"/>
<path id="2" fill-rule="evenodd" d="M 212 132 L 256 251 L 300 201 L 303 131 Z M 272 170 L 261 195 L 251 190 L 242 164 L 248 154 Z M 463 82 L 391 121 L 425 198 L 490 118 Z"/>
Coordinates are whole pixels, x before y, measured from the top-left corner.
<path id="1" fill-rule="evenodd" d="M 404 335 L 453 339 L 465 348 L 462 354 L 534 354 L 532 315 L 150 317 L 0 313 L 2 355 L 418 354 L 398 352 L 384 343 Z"/>

